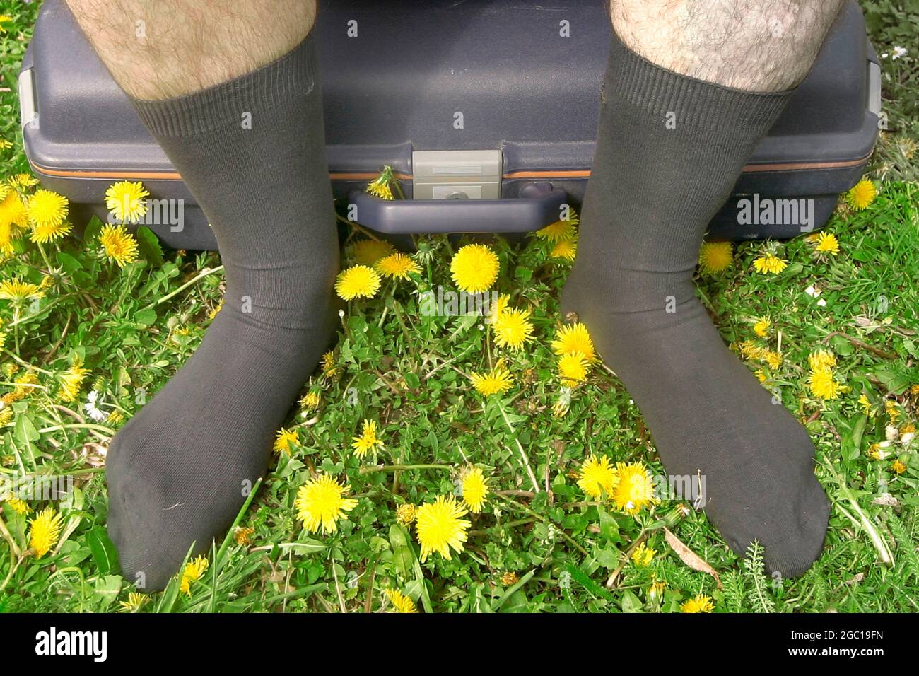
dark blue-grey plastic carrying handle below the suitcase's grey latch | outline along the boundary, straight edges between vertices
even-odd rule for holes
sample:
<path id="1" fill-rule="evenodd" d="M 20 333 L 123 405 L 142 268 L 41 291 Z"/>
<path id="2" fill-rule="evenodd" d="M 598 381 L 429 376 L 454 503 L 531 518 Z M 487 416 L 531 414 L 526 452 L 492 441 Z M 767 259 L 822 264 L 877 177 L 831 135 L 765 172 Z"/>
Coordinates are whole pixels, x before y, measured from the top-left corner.
<path id="1" fill-rule="evenodd" d="M 555 223 L 568 195 L 551 183 L 528 183 L 508 200 L 381 200 L 354 190 L 355 221 L 378 233 L 528 233 Z"/>

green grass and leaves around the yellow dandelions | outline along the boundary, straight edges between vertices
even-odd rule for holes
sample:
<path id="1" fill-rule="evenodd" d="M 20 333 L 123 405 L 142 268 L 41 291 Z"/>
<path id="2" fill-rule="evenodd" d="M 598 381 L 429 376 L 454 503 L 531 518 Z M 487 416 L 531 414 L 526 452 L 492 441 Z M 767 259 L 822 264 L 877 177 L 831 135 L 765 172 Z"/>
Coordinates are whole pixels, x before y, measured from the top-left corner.
<path id="1" fill-rule="evenodd" d="M 876 5 L 886 7 L 879 17 L 895 15 L 893 6 Z M 14 143 L 0 155 L 0 172 L 10 176 L 28 169 L 17 136 L 15 72 L 35 6 L 0 2 L 0 13 L 14 17 L 0 36 L 4 85 L 14 89 L 0 93 L 3 138 Z M 889 28 L 881 35 L 898 40 Z M 902 110 L 912 105 L 904 101 Z M 278 456 L 240 514 L 239 526 L 251 533 L 231 531 L 188 593 L 176 580 L 144 599 L 142 612 L 376 612 L 391 609 L 384 589 L 435 612 L 678 612 L 700 593 L 715 612 L 919 610 L 915 444 L 894 443 L 882 460 L 868 454 L 885 440 L 891 414 L 898 429 L 919 418 L 919 393 L 911 389 L 919 384 L 917 197 L 912 183 L 884 182 L 865 211 L 841 207 L 826 228 L 840 242 L 836 256 L 817 258 L 804 238 L 743 244 L 729 269 L 699 279 L 726 341 L 780 351 L 775 368 L 748 365 L 763 370 L 765 385 L 806 422 L 817 446 L 817 474 L 834 510 L 823 556 L 802 578 L 767 578 L 755 548 L 738 560 L 700 512 L 684 517 L 665 502 L 633 517 L 584 496 L 573 472 L 589 453 L 638 460 L 653 474 L 663 468 L 628 393 L 603 369 L 573 390 L 564 415 L 553 412 L 564 392 L 549 343 L 568 264 L 549 258 L 536 238 L 491 244 L 501 260 L 494 288 L 528 308 L 535 327 L 528 349 L 511 352 L 494 346 L 480 318 L 420 311 L 419 290 L 453 286 L 448 266 L 457 243 L 435 237 L 419 242 L 418 279 L 387 282 L 375 299 L 347 305 L 332 368 L 304 384 L 304 393 L 320 395 L 318 408 L 291 411 L 286 427 L 299 441 Z M 83 240 L 67 236 L 42 249 L 19 239 L 0 268 L 0 281 L 46 284 L 38 302 L 0 301 L 0 395 L 15 392 L 22 374 L 36 376 L 6 407 L 0 472 L 73 475 L 76 487 L 64 503 L 30 503 L 28 515 L 0 503 L 6 612 L 112 611 L 129 602 L 104 528 L 101 454 L 141 406 L 139 393 L 155 393 L 194 351 L 221 299 L 215 254 L 162 252 L 142 241 L 142 258 L 121 269 L 95 232 L 91 226 Z M 754 271 L 767 246 L 789 261 L 776 276 Z M 772 326 L 760 338 L 753 326 L 764 316 Z M 816 398 L 806 385 L 815 349 L 836 356 L 835 380 L 846 389 L 835 399 Z M 504 396 L 483 398 L 467 376 L 499 357 L 515 384 Z M 74 401 L 64 401 L 62 377 L 77 360 L 88 373 Z M 88 418 L 90 391 L 108 418 Z M 350 451 L 365 418 L 379 423 L 385 444 L 376 463 Z M 892 468 L 895 459 L 902 474 Z M 462 553 L 421 563 L 414 529 L 397 522 L 396 509 L 455 493 L 468 463 L 482 467 L 494 492 L 471 518 Z M 349 520 L 328 536 L 305 532 L 293 508 L 298 488 L 319 471 L 346 480 L 357 498 Z M 38 557 L 28 551 L 28 519 L 48 506 L 62 512 L 62 536 Z M 687 565 L 664 525 L 696 556 L 684 558 L 697 568 L 706 562 L 718 579 Z M 629 556 L 642 541 L 656 551 L 647 566 Z M 654 581 L 663 590 L 652 590 Z"/>

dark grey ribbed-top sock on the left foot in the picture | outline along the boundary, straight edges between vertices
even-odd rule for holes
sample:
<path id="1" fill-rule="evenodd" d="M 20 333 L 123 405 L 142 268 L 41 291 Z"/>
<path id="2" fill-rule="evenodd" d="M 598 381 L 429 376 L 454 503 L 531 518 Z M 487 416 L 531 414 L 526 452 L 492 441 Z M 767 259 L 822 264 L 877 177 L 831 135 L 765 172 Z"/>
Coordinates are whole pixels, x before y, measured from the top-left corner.
<path id="1" fill-rule="evenodd" d="M 334 334 L 338 241 L 311 38 L 230 82 L 133 103 L 226 267 L 225 303 L 201 346 L 108 453 L 122 570 L 159 590 L 265 475 L 275 431 Z"/>

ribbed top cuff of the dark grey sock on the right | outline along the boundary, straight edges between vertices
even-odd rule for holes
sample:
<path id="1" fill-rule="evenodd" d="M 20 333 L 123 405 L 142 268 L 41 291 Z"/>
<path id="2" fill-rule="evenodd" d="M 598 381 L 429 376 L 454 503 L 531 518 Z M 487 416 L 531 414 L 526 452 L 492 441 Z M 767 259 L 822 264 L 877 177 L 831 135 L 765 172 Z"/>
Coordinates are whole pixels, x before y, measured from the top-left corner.
<path id="1" fill-rule="evenodd" d="M 604 96 L 655 116 L 673 112 L 677 125 L 758 136 L 769 131 L 793 91 L 744 91 L 678 74 L 632 52 L 613 31 Z"/>

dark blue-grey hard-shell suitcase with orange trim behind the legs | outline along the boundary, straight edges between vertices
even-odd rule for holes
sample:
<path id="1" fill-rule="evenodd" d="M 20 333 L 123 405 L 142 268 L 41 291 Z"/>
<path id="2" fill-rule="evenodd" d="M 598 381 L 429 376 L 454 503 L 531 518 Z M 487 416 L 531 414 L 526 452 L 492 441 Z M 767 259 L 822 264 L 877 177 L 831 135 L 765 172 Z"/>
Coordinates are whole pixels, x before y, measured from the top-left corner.
<path id="1" fill-rule="evenodd" d="M 320 2 L 315 28 L 336 208 L 382 235 L 533 231 L 580 206 L 590 175 L 610 27 L 606 0 Z M 743 169 L 709 237 L 798 235 L 800 223 L 739 219 L 738 201 L 811 201 L 814 227 L 861 177 L 877 138 L 880 69 L 853 2 L 811 74 Z M 213 249 L 175 169 L 92 52 L 62 0 L 46 0 L 19 73 L 35 175 L 75 223 L 118 180 L 183 205 L 148 210 L 165 244 Z M 391 166 L 404 200 L 366 192 Z M 165 204 L 165 202 L 162 202 Z M 780 210 L 777 210 L 780 212 Z M 754 219 L 758 220 L 758 219 Z M 744 221 L 743 223 L 741 221 Z"/>

